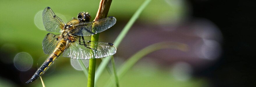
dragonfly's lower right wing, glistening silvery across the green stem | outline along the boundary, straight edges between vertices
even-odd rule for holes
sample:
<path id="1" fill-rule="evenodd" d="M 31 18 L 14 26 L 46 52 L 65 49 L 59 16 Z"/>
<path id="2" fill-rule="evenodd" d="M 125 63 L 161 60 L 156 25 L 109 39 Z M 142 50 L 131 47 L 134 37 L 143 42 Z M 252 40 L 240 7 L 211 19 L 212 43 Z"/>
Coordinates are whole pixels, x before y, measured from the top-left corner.
<path id="1" fill-rule="evenodd" d="M 67 44 L 62 56 L 73 59 L 92 59 L 93 57 L 107 57 L 115 53 L 116 47 L 111 43 L 88 41 L 79 38 L 75 42 Z"/>

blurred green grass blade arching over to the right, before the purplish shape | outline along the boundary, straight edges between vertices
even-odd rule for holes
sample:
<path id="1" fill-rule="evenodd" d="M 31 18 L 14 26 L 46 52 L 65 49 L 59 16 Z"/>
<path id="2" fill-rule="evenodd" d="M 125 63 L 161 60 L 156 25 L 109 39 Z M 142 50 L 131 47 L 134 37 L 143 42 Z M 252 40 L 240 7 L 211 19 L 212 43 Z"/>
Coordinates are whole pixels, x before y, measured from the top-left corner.
<path id="1" fill-rule="evenodd" d="M 148 55 L 151 52 L 154 52 L 156 50 L 161 50 L 161 49 L 177 49 L 181 51 L 187 51 L 188 47 L 186 44 L 178 43 L 178 42 L 160 42 L 156 44 L 152 44 L 150 46 L 147 46 L 146 48 L 143 48 L 142 50 L 138 51 L 135 53 L 132 57 L 130 57 L 127 61 L 125 61 L 120 69 L 117 72 L 117 77 L 119 79 L 123 77 L 123 75 L 141 58 L 144 56 Z M 113 75 L 111 76 L 111 79 L 113 79 Z M 107 87 L 113 87 L 113 83 L 110 82 L 112 80 L 109 80 L 107 82 Z"/>

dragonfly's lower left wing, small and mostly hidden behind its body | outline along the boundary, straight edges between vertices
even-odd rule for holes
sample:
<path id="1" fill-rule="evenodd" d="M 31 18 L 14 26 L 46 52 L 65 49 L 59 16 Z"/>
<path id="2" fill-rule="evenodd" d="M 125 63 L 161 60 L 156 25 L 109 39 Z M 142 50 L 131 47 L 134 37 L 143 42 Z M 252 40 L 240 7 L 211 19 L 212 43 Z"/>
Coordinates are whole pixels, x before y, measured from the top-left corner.
<path id="1" fill-rule="evenodd" d="M 48 33 L 43 39 L 43 50 L 45 54 L 52 54 L 58 44 L 59 35 Z"/>

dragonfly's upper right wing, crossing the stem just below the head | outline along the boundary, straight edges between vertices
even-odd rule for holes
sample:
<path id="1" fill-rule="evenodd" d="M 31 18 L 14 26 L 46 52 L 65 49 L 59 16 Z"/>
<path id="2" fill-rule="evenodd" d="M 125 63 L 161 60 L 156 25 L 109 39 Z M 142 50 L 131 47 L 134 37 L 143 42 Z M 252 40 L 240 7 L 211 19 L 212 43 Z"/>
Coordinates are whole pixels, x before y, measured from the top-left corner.
<path id="1" fill-rule="evenodd" d="M 115 17 L 107 17 L 97 21 L 81 22 L 74 25 L 74 29 L 71 30 L 71 34 L 78 36 L 90 36 L 107 30 L 115 23 Z"/>

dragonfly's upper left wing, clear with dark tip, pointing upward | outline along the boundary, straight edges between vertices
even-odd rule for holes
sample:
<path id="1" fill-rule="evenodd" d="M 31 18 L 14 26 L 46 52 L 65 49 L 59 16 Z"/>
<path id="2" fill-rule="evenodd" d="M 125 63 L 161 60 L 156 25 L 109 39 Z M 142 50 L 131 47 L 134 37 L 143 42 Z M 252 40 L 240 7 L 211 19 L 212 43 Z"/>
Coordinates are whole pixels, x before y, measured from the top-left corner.
<path id="1" fill-rule="evenodd" d="M 46 7 L 43 11 L 43 23 L 45 29 L 49 32 L 61 32 L 65 23 L 57 17 L 50 7 Z"/>

